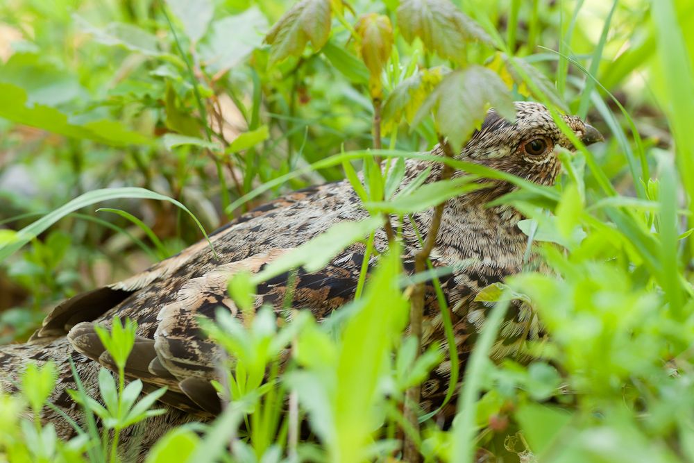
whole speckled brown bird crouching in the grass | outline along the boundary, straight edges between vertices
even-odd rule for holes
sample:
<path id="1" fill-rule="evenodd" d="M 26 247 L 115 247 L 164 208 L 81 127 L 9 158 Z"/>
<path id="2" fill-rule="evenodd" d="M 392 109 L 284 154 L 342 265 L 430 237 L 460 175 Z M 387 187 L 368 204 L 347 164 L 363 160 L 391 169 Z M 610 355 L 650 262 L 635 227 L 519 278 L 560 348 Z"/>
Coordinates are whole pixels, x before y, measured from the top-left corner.
<path id="1" fill-rule="evenodd" d="M 459 153 L 459 159 L 506 171 L 541 185 L 552 185 L 561 169 L 555 146 L 573 150 L 550 112 L 539 103 L 516 103 L 514 124 L 490 110 L 481 128 Z M 578 117 L 563 116 L 566 124 L 585 144 L 602 140 L 595 128 Z M 432 151 L 443 155 L 439 147 Z M 404 187 L 416 176 L 431 168 L 428 182 L 441 174 L 441 164 L 424 160 L 407 160 Z M 454 176 L 466 175 L 457 171 Z M 486 285 L 503 281 L 519 273 L 527 246 L 527 236 L 518 228 L 523 216 L 508 205 L 487 208 L 486 203 L 515 190 L 511 183 L 489 180 L 480 190 L 449 199 L 443 210 L 441 227 L 431 253 L 435 266 L 449 266 L 452 274 L 440 278 L 454 325 L 460 362 L 466 360 L 475 334 L 488 307 L 473 301 Z M 128 380 L 140 378 L 150 387 L 168 386 L 160 399 L 167 413 L 155 416 L 121 434 L 121 439 L 139 435 L 146 451 L 172 426 L 206 419 L 220 410 L 219 397 L 210 380 L 217 378 L 215 355 L 219 348 L 207 339 L 198 326 L 197 317 L 214 317 L 217 308 L 239 315 L 227 295 L 230 276 L 244 270 L 257 273 L 266 264 L 291 249 L 324 233 L 341 221 L 361 221 L 369 217 L 346 180 L 305 188 L 266 203 L 223 226 L 210 239 L 219 260 L 204 240 L 153 265 L 128 280 L 114 283 L 71 298 L 58 305 L 28 343 L 0 348 L 0 376 L 3 388 L 16 391 L 13 382 L 29 362 L 56 362 L 60 371 L 51 402 L 77 423 L 84 424 L 80 407 L 72 401 L 67 388 L 76 388 L 69 360 L 87 392 L 98 398 L 99 369 L 114 370 L 115 365 L 94 330 L 96 324 L 109 326 L 114 317 L 137 321 L 137 340 L 128 359 Z M 428 230 L 433 210 L 414 214 L 418 230 Z M 393 223 L 394 226 L 396 224 Z M 411 223 L 403 228 L 405 268 L 412 272 L 420 245 Z M 375 248 L 387 249 L 384 230 L 375 233 Z M 294 280 L 291 307 L 311 310 L 323 319 L 350 301 L 355 294 L 365 246 L 356 243 L 339 253 L 321 271 L 307 273 L 299 269 Z M 465 262 L 464 266 L 460 262 Z M 372 257 L 372 266 L 378 258 Z M 278 317 L 285 303 L 287 273 L 258 285 L 255 307 L 270 305 Z M 425 301 L 423 344 L 443 342 L 445 334 L 441 312 L 434 292 Z M 242 319 L 239 315 L 239 319 Z M 243 321 L 243 320 L 242 320 Z M 520 353 L 525 339 L 541 335 L 541 326 L 527 305 L 513 306 L 507 314 L 493 356 Z M 444 351 L 446 343 L 443 342 Z M 446 360 L 432 372 L 422 387 L 422 405 L 433 410 L 446 395 L 450 375 Z M 8 380 L 9 376 L 10 380 Z M 455 410 L 449 405 L 444 414 Z M 55 424 L 59 435 L 69 438 L 74 430 L 60 414 L 46 408 L 43 419 Z M 128 448 L 133 448 L 127 446 Z M 139 455 L 131 455 L 139 456 Z"/>

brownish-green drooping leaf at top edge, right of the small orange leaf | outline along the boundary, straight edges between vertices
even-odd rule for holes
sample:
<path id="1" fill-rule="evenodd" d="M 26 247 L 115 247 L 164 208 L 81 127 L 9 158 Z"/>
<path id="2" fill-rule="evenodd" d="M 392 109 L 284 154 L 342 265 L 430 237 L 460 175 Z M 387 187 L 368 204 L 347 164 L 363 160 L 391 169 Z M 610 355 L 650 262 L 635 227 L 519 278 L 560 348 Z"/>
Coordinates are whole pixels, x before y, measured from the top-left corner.
<path id="1" fill-rule="evenodd" d="M 397 10 L 398 26 L 407 42 L 420 37 L 424 46 L 441 56 L 465 62 L 465 42 L 494 41 L 474 19 L 449 0 L 404 0 Z"/>

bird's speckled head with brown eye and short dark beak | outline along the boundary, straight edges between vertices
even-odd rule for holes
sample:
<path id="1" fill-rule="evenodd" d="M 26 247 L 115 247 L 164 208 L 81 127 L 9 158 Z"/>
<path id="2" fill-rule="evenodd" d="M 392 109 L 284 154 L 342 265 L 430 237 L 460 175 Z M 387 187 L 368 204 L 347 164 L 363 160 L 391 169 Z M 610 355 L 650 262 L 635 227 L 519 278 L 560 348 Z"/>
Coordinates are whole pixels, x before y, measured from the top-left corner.
<path id="1" fill-rule="evenodd" d="M 552 185 L 561 170 L 561 161 L 555 152 L 557 145 L 570 151 L 575 148 L 544 105 L 532 101 L 515 104 L 514 124 L 489 110 L 480 130 L 473 133 L 459 158 L 534 183 Z M 584 144 L 604 141 L 600 132 L 579 117 L 561 118 Z"/>

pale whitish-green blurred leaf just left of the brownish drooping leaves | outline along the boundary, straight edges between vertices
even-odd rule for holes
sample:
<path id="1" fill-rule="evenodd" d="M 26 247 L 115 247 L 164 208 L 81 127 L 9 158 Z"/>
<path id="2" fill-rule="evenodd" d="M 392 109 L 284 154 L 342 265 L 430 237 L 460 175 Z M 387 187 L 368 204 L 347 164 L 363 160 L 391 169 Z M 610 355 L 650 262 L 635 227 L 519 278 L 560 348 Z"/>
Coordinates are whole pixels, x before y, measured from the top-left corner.
<path id="1" fill-rule="evenodd" d="M 200 44 L 205 69 L 216 73 L 239 65 L 262 46 L 267 28 L 267 19 L 257 6 L 212 22 L 210 33 Z"/>

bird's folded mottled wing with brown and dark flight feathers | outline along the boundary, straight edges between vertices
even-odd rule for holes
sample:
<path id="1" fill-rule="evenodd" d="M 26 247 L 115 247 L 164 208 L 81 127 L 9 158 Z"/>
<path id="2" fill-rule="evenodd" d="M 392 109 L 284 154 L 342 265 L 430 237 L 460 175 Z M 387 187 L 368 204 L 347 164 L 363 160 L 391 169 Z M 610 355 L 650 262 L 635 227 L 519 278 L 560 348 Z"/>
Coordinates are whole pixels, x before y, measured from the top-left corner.
<path id="1" fill-rule="evenodd" d="M 329 215 L 325 211 L 332 208 L 330 201 L 341 201 L 346 211 L 354 209 L 344 194 L 330 190 L 327 196 L 320 196 L 326 189 L 330 185 L 294 192 L 214 233 L 211 239 L 219 260 L 207 242 L 199 242 L 133 278 L 67 301 L 49 315 L 36 337 L 69 331 L 69 342 L 76 351 L 116 371 L 95 326 L 108 328 L 114 317 L 130 317 L 138 323 L 138 336 L 126 364 L 126 377 L 140 379 L 150 388 L 167 386 L 161 401 L 181 410 L 201 416 L 217 414 L 219 397 L 210 380 L 219 379 L 223 352 L 209 339 L 199 319 L 214 319 L 216 310 L 225 308 L 242 323 L 247 321 L 227 296 L 228 281 L 239 271 L 257 273 L 293 249 L 287 246 L 291 241 L 280 236 L 282 226 L 289 223 L 293 228 L 286 233 L 300 234 L 294 239 L 298 245 L 321 227 L 329 228 L 327 222 L 353 218 L 325 218 Z M 307 200 L 312 195 L 319 197 Z M 282 246 L 271 247 L 278 243 Z M 364 251 L 364 244 L 357 243 L 321 271 L 298 269 L 291 276 L 287 272 L 261 283 L 255 307 L 270 305 L 280 317 L 291 282 L 291 308 L 307 308 L 319 319 L 327 316 L 353 298 Z"/>

